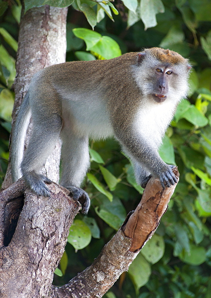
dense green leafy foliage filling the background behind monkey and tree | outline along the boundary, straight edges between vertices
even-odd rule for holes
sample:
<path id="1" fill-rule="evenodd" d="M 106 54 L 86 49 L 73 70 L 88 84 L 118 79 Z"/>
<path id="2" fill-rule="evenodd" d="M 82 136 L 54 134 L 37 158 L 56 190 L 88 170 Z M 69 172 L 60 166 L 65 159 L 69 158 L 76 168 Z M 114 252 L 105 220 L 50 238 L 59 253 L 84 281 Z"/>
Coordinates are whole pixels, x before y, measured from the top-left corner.
<path id="1" fill-rule="evenodd" d="M 8 159 L 21 9 L 18 0 L 12 3 L 8 7 L 7 1 L 0 1 L 0 179 Z M 180 181 L 155 235 L 105 297 L 210 298 L 210 1 L 25 1 L 26 10 L 44 4 L 72 4 L 67 22 L 68 61 L 108 59 L 152 46 L 190 58 L 188 100 L 178 105 L 159 151 L 167 163 L 177 164 Z M 66 283 L 93 262 L 143 193 L 115 140 L 90 141 L 90 157 L 91 169 L 83 187 L 90 195 L 91 208 L 88 217 L 76 216 L 68 238 L 71 244 L 67 243 L 60 271 L 55 272 L 59 275 L 55 275 L 55 285 Z"/>

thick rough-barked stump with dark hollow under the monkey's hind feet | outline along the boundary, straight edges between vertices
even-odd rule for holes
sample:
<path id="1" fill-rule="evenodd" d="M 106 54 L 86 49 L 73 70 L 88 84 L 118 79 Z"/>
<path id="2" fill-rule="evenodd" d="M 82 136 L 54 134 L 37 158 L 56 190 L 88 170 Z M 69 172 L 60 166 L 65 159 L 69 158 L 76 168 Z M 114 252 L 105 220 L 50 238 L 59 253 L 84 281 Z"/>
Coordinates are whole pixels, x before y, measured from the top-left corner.
<path id="1" fill-rule="evenodd" d="M 49 185 L 50 198 L 37 197 L 24 181 L 12 184 L 0 194 L 0 297 L 48 297 L 53 272 L 64 252 L 70 225 L 80 209 L 69 191 Z M 12 201 L 24 200 L 13 238 L 4 246 L 8 221 L 5 213 Z"/>

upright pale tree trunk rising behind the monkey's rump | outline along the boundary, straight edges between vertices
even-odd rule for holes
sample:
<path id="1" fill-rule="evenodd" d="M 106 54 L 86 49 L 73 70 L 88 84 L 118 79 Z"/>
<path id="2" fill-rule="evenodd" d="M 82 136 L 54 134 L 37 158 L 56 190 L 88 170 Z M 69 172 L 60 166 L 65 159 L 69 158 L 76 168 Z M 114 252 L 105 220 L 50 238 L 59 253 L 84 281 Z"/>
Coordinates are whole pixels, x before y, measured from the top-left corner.
<path id="1" fill-rule="evenodd" d="M 28 90 L 31 77 L 44 67 L 65 62 L 66 56 L 66 17 L 67 7 L 48 5 L 22 11 L 18 52 L 16 59 L 16 79 L 14 82 L 15 104 L 12 125 L 19 106 Z M 31 125 L 27 131 L 25 145 L 30 138 Z M 60 144 L 47 159 L 41 173 L 53 181 L 59 179 Z M 10 161 L 2 189 L 12 183 Z"/>

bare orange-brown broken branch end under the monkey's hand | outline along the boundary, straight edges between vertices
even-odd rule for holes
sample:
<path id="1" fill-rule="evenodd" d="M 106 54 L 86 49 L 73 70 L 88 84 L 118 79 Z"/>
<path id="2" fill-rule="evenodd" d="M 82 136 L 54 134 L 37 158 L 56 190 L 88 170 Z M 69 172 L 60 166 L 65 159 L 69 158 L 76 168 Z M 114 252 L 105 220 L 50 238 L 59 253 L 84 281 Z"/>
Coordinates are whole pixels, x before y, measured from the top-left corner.
<path id="1" fill-rule="evenodd" d="M 173 168 L 173 173 L 179 181 L 176 166 Z M 131 252 L 141 249 L 152 237 L 167 210 L 176 185 L 163 188 L 160 181 L 153 177 L 147 183 L 140 203 L 122 227 L 124 234 L 132 239 Z"/>

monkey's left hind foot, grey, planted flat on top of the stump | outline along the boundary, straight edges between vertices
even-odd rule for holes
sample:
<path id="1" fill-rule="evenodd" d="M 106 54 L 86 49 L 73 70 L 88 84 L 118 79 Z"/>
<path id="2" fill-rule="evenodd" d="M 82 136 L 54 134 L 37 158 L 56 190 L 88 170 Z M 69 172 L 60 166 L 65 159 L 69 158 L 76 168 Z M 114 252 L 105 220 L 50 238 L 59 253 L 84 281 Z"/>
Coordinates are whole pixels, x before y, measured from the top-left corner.
<path id="1" fill-rule="evenodd" d="M 27 185 L 30 187 L 30 189 L 36 193 L 38 196 L 44 196 L 44 197 L 50 197 L 50 190 L 45 185 L 51 184 L 52 181 L 45 177 L 44 175 L 40 175 L 35 173 L 34 171 L 27 173 L 26 176 L 24 176 L 24 180 L 26 181 Z"/>

